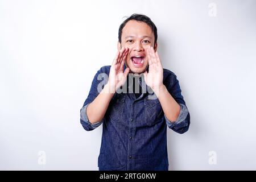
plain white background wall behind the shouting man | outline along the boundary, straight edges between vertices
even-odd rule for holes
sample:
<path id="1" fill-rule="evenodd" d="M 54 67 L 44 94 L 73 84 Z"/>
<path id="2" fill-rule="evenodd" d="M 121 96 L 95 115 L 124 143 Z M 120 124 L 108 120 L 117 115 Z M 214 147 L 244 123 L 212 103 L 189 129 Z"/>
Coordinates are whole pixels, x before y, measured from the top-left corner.
<path id="1" fill-rule="evenodd" d="M 167 132 L 170 170 L 255 170 L 255 5 L 0 1 L 0 169 L 98 169 L 102 126 L 85 131 L 80 109 L 98 69 L 112 63 L 123 16 L 142 13 L 158 27 L 163 67 L 191 113 L 187 133 Z"/>

